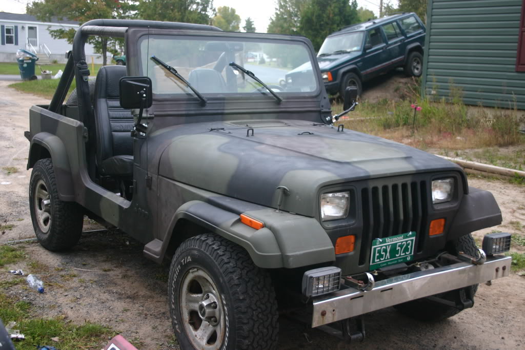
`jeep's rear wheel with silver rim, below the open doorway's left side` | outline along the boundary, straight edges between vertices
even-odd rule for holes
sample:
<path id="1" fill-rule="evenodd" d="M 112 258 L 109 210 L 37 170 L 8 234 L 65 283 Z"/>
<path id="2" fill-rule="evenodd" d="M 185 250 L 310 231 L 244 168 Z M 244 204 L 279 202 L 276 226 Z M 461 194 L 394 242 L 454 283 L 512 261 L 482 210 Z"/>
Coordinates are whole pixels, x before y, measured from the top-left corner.
<path id="1" fill-rule="evenodd" d="M 66 250 L 82 235 L 83 214 L 75 202 L 58 198 L 53 163 L 49 158 L 35 163 L 29 182 L 29 211 L 40 245 L 51 251 Z"/>

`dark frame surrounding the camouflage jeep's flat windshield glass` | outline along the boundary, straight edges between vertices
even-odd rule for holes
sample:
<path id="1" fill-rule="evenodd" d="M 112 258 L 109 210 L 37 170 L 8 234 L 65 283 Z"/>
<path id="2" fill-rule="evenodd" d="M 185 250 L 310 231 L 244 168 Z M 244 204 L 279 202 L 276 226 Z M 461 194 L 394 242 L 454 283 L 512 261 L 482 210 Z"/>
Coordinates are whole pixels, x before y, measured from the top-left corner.
<path id="1" fill-rule="evenodd" d="M 314 91 L 308 91 L 308 92 L 284 92 L 279 93 L 279 96 L 283 98 L 284 101 L 287 99 L 297 99 L 297 98 L 309 98 L 317 97 L 321 94 L 324 86 L 322 83 L 322 80 L 320 79 L 320 70 L 319 66 L 317 64 L 317 57 L 314 54 L 313 47 L 310 43 L 310 41 L 307 38 L 301 37 L 301 36 L 289 36 L 289 35 L 275 35 L 275 34 L 260 34 L 260 33 L 237 33 L 237 32 L 224 32 L 224 31 L 201 31 L 201 30 L 166 30 L 166 29 L 158 29 L 158 28 L 132 28 L 130 27 L 126 33 L 126 40 L 128 41 L 128 44 L 126 45 L 127 48 L 127 57 L 128 59 L 128 73 L 130 76 L 145 76 L 145 72 L 143 72 L 143 62 L 141 61 L 141 43 L 143 40 L 147 40 L 148 36 L 171 36 L 174 39 L 180 38 L 191 38 L 191 37 L 198 37 L 198 38 L 209 38 L 212 40 L 225 40 L 225 41 L 247 41 L 250 39 L 254 39 L 255 41 L 264 42 L 267 41 L 268 43 L 277 42 L 277 41 L 283 41 L 283 44 L 289 43 L 290 41 L 295 41 L 296 44 L 304 46 L 304 49 L 306 49 L 307 55 L 310 59 L 310 62 L 312 63 L 313 67 L 313 75 L 314 79 L 316 81 L 316 90 Z M 131 44 L 133 43 L 133 44 Z M 155 55 L 155 52 L 151 51 L 149 52 L 149 55 Z M 269 97 L 268 97 L 269 95 Z M 254 93 L 246 93 L 246 92 L 234 92 L 234 93 L 227 93 L 227 94 L 214 94 L 214 93 L 206 93 L 206 98 L 208 101 L 213 101 L 214 99 L 222 100 L 225 99 L 230 100 L 257 100 L 257 101 L 268 101 L 268 103 L 275 104 L 275 99 L 271 97 L 271 95 L 268 94 L 254 94 Z M 153 93 L 153 101 L 172 101 L 172 102 L 181 102 L 181 101 L 187 101 L 187 103 L 192 103 L 194 98 L 188 96 L 187 94 L 183 94 L 180 92 L 173 93 L 173 94 L 166 94 L 166 93 Z M 196 99 L 195 99 L 196 100 Z M 198 101 L 198 100 L 197 100 Z"/>

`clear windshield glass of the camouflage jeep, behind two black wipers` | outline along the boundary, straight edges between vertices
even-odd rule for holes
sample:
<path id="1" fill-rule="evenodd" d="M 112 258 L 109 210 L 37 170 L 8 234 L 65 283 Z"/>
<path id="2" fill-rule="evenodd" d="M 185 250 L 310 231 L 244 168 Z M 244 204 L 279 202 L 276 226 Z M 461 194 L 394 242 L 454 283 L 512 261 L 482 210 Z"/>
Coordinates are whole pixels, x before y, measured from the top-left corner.
<path id="1" fill-rule="evenodd" d="M 195 96 L 188 86 L 156 64 L 155 56 L 173 67 L 204 96 L 262 96 L 275 100 L 262 85 L 239 69 L 235 62 L 253 72 L 280 96 L 318 90 L 315 71 L 300 87 L 286 86 L 286 74 L 304 62 L 311 62 L 308 47 L 298 41 L 217 38 L 174 35 L 144 35 L 139 41 L 142 75 L 153 83 L 154 94 Z"/>

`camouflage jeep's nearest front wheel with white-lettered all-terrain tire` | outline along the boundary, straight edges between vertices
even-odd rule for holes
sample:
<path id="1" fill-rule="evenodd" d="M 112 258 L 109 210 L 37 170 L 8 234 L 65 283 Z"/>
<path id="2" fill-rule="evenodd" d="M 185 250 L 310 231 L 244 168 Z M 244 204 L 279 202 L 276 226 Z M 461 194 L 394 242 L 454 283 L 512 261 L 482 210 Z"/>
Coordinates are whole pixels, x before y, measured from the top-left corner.
<path id="1" fill-rule="evenodd" d="M 183 349 L 268 349 L 277 345 L 277 302 L 268 272 L 213 234 L 178 247 L 168 285 L 173 330 Z"/>

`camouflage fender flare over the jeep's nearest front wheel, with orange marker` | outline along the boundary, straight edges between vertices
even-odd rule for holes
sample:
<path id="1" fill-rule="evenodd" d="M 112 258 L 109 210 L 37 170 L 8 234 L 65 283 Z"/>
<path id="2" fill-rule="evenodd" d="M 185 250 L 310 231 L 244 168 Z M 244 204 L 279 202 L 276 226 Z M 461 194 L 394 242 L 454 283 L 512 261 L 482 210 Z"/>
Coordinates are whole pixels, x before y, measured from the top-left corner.
<path id="1" fill-rule="evenodd" d="M 260 268 L 296 268 L 335 260 L 332 241 L 316 219 L 276 214 L 271 208 L 250 215 L 263 220 L 265 227 L 256 230 L 242 224 L 238 214 L 200 200 L 189 201 L 175 211 L 158 255 L 147 247 L 144 252 L 162 261 L 177 221 L 186 219 L 243 247 Z"/>

